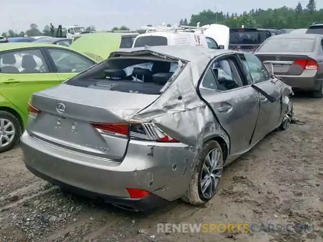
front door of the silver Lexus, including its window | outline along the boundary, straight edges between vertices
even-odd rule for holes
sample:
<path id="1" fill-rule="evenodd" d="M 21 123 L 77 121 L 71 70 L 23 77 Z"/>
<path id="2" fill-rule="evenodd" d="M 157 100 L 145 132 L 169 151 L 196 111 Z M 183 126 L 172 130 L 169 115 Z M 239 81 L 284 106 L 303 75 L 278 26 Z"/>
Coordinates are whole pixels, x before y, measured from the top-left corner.
<path id="1" fill-rule="evenodd" d="M 253 85 L 262 90 L 260 96 L 260 111 L 253 141 L 258 142 L 265 135 L 273 131 L 280 122 L 282 112 L 281 82 L 271 78 L 262 62 L 252 53 L 239 53 L 242 63 L 250 73 Z M 270 98 L 274 98 L 270 100 Z"/>

